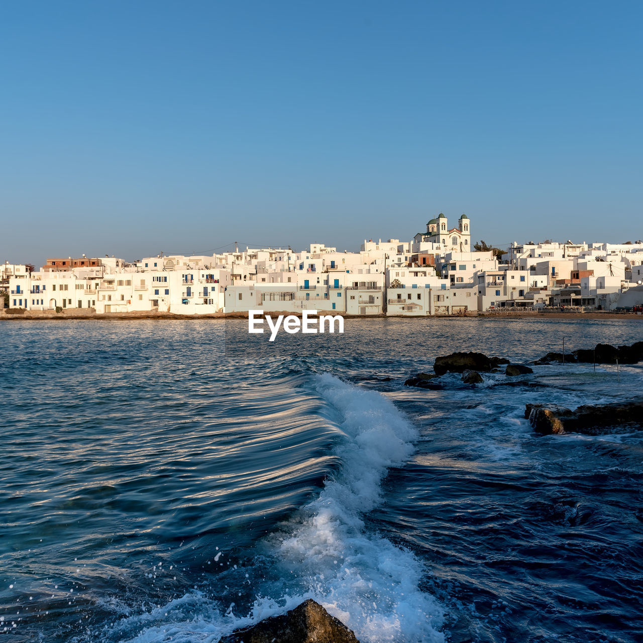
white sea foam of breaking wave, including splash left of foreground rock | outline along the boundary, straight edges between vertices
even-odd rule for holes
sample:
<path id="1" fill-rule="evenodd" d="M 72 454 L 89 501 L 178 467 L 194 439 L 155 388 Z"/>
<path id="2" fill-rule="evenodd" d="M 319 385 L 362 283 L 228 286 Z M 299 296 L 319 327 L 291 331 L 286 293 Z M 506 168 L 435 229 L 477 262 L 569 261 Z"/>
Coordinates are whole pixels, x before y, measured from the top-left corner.
<path id="1" fill-rule="evenodd" d="M 419 588 L 424 570 L 412 552 L 368 532 L 363 515 L 381 501 L 388 467 L 413 453 L 417 431 L 383 395 L 318 376 L 314 388 L 338 413 L 345 439 L 341 467 L 320 495 L 259 549 L 281 581 L 257 586 L 246 617 L 226 613 L 201 594 L 128 617 L 111 637 L 136 643 L 215 642 L 240 627 L 283 613 L 307 598 L 320 602 L 353 629 L 362 643 L 440 643 L 443 611 Z M 129 635 L 126 633 L 129 632 Z M 134 637 L 132 633 L 138 632 Z"/>

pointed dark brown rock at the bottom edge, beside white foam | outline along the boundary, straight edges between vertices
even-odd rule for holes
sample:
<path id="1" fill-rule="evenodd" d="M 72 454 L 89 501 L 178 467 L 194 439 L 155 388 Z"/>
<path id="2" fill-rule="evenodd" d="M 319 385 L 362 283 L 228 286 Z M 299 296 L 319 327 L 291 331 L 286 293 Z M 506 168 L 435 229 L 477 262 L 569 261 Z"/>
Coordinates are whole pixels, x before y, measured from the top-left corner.
<path id="1" fill-rule="evenodd" d="M 359 643 L 352 630 L 308 599 L 281 616 L 238 629 L 219 643 Z"/>

